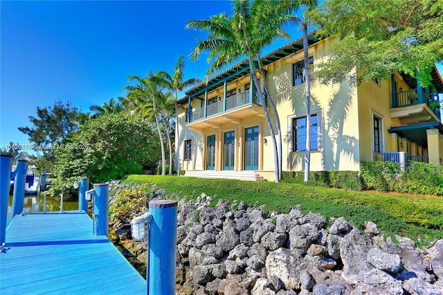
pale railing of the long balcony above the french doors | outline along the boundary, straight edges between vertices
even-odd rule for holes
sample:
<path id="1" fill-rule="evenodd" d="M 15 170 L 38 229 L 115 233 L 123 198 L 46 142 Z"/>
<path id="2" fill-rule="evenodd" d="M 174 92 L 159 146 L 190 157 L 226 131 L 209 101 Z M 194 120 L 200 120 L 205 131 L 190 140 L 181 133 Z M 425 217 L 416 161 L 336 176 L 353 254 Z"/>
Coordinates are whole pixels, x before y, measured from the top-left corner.
<path id="1" fill-rule="evenodd" d="M 262 105 L 257 97 L 257 94 L 255 94 L 255 96 L 253 97 L 253 102 L 251 102 L 251 97 L 249 96 L 249 90 L 246 90 L 244 92 L 230 96 L 226 98 L 226 100 L 220 100 L 214 102 L 211 105 L 207 105 L 206 118 L 210 116 L 215 116 L 217 114 L 221 114 L 226 111 L 230 111 L 232 109 L 244 107 L 245 105 L 251 105 L 252 103 L 255 105 Z M 190 122 L 201 120 L 203 118 L 205 118 L 205 107 L 201 107 L 200 109 L 192 111 Z"/>

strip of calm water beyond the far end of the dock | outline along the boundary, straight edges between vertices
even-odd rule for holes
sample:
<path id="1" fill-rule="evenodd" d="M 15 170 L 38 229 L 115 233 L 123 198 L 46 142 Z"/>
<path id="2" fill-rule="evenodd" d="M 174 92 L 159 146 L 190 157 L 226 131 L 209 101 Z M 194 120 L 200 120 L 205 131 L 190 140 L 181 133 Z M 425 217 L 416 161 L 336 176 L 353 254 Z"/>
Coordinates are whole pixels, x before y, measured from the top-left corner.
<path id="1" fill-rule="evenodd" d="M 9 196 L 9 204 L 8 204 L 8 221 L 6 224 L 10 222 L 11 215 L 11 206 L 12 206 L 12 195 Z M 23 209 L 26 214 L 28 213 L 37 213 L 43 212 L 44 206 L 44 197 L 37 195 L 25 195 Z M 63 200 L 63 210 L 78 210 L 78 202 L 66 202 Z M 46 212 L 60 212 L 60 197 L 46 197 Z"/>

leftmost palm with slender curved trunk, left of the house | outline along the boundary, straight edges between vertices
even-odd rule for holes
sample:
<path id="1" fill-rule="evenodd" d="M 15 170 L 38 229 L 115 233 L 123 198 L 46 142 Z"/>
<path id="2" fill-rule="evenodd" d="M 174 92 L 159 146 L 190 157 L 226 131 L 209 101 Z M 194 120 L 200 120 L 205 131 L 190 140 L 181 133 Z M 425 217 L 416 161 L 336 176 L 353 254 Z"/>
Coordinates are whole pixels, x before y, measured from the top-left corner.
<path id="1" fill-rule="evenodd" d="M 132 102 L 135 111 L 146 116 L 146 110 L 152 107 L 152 115 L 154 116 L 157 131 L 159 132 L 160 147 L 161 147 L 161 175 L 165 175 L 165 145 L 163 143 L 163 135 L 161 133 L 159 113 L 157 110 L 157 102 L 161 98 L 161 85 L 158 83 L 159 74 L 148 73 L 146 78 L 141 78 L 138 75 L 129 75 L 129 82 L 136 81 L 136 85 L 130 85 L 124 88 L 128 91 L 127 101 Z"/>

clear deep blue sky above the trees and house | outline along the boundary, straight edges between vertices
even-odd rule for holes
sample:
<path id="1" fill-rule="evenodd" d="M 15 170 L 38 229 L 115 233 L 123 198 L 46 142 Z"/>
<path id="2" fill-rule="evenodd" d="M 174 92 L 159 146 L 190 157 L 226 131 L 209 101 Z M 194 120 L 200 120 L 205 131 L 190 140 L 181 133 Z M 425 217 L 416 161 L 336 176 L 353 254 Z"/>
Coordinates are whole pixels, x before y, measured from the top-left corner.
<path id="1" fill-rule="evenodd" d="M 188 55 L 195 38 L 205 36 L 184 26 L 230 13 L 229 1 L 0 1 L 0 6 L 0 145 L 29 143 L 17 128 L 31 126 L 28 116 L 36 115 L 37 106 L 61 100 L 89 111 L 90 105 L 125 96 L 128 75 L 172 73 L 179 55 L 186 57 L 186 79 L 204 78 L 206 58 L 192 62 Z M 298 37 L 297 28 L 291 30 Z"/>

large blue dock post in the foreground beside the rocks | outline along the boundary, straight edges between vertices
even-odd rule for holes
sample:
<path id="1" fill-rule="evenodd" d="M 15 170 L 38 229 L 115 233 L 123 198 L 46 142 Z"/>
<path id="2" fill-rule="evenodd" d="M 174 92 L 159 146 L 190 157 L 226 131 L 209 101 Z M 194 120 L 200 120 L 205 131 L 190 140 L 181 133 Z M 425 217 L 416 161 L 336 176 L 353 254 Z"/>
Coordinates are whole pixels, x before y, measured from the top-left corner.
<path id="1" fill-rule="evenodd" d="M 149 203 L 152 221 L 148 237 L 147 295 L 175 294 L 177 204 L 165 199 Z"/>

